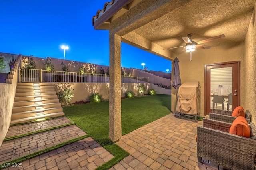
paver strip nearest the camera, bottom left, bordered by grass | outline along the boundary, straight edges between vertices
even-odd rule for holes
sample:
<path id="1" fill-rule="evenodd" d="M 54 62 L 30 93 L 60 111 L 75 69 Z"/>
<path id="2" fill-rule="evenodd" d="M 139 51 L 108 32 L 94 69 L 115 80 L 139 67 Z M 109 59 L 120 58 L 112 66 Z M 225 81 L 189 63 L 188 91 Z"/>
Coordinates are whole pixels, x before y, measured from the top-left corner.
<path id="1" fill-rule="evenodd" d="M 113 156 L 102 146 L 98 145 L 95 147 L 93 145 L 95 145 L 95 141 L 91 137 L 88 137 L 52 152 L 37 156 L 31 160 L 21 162 L 20 164 L 22 164 L 23 167 L 16 169 L 38 170 L 43 168 L 45 170 L 74 170 L 81 168 L 84 170 L 93 170 L 113 158 Z M 99 151 L 101 153 L 99 155 L 94 154 L 93 156 L 89 156 L 87 154 L 87 152 L 96 153 Z M 102 156 L 103 154 L 104 156 Z M 89 162 L 88 160 L 91 161 Z"/>

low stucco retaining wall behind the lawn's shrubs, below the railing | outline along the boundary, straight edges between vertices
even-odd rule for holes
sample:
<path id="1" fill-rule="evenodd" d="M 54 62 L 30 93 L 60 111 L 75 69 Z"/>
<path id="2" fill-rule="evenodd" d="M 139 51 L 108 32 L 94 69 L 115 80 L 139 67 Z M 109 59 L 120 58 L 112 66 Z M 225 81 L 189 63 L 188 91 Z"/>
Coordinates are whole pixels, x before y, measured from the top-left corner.
<path id="1" fill-rule="evenodd" d="M 70 103 L 80 100 L 86 100 L 92 93 L 99 93 L 103 99 L 109 99 L 109 83 L 53 83 L 54 88 L 59 92 L 59 88 L 65 85 L 71 85 L 74 97 Z M 133 91 L 135 95 L 138 93 L 138 83 L 122 83 L 121 95 L 124 97 L 127 91 Z M 151 83 L 145 83 L 147 89 L 152 89 Z"/>

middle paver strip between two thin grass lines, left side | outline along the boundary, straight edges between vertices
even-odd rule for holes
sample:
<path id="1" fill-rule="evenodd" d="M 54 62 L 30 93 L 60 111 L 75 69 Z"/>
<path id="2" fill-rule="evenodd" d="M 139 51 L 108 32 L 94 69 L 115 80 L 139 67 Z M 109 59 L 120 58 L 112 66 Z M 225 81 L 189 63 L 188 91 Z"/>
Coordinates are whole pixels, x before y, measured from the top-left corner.
<path id="1" fill-rule="evenodd" d="M 57 129 L 40 132 L 22 138 L 16 138 L 3 142 L 0 148 L 0 163 L 14 160 L 42 150 L 50 148 L 73 138 L 84 136 L 86 133 L 76 125 L 69 125 Z"/>

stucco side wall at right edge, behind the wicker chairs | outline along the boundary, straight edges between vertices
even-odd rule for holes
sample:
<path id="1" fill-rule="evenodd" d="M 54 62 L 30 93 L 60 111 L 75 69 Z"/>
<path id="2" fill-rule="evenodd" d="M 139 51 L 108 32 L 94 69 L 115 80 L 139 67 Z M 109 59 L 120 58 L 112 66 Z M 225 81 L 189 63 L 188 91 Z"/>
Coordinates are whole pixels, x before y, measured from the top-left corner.
<path id="1" fill-rule="evenodd" d="M 254 7 L 255 9 L 255 7 Z M 241 79 L 241 103 L 244 109 L 248 109 L 252 114 L 252 122 L 256 123 L 256 14 L 255 10 L 248 28 L 244 48 L 244 65 Z M 243 83 L 246 82 L 246 83 Z M 243 84 L 243 86 L 242 86 Z M 242 92 L 241 91 L 241 92 Z"/>

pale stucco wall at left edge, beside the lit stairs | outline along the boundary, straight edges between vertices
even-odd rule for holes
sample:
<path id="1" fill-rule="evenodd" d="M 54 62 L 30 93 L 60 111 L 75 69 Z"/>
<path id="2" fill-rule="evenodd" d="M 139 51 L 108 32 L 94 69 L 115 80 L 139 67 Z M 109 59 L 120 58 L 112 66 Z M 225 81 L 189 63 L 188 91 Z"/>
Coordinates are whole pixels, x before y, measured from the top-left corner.
<path id="1" fill-rule="evenodd" d="M 12 108 L 15 98 L 18 77 L 18 61 L 10 71 L 6 83 L 0 83 L 0 147 L 10 127 Z"/>

